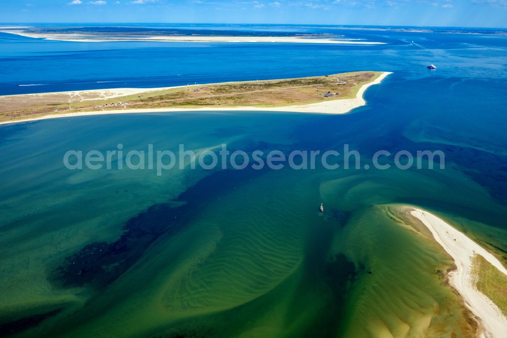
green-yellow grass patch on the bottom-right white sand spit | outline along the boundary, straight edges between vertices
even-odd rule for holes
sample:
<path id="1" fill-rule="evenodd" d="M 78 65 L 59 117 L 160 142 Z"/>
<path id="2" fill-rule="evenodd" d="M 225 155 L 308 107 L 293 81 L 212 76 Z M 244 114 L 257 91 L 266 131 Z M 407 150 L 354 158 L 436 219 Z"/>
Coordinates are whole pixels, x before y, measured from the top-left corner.
<path id="1" fill-rule="evenodd" d="M 477 289 L 491 299 L 507 316 L 507 276 L 483 256 L 475 254 L 473 272 L 477 277 Z"/>

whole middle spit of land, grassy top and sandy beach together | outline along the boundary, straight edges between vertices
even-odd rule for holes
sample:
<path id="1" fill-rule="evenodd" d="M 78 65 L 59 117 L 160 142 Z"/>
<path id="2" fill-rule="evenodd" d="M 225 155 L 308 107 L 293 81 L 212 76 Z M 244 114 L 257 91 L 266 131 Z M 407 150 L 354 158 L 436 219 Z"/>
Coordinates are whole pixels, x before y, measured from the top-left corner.
<path id="1" fill-rule="evenodd" d="M 0 96 L 0 123 L 63 116 L 188 110 L 343 114 L 390 73 L 361 71 L 294 79 L 115 88 Z"/>

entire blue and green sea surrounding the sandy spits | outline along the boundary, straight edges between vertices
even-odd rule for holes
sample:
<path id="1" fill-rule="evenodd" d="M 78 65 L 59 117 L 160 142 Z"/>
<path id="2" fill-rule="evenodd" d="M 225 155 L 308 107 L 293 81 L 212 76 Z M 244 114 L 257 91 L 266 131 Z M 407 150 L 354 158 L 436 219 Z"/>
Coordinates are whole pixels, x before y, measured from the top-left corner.
<path id="1" fill-rule="evenodd" d="M 73 83 L 50 90 L 95 88 L 83 82 L 105 78 L 180 84 L 174 73 L 196 82 L 393 74 L 368 89 L 365 107 L 342 116 L 125 114 L 0 127 L 2 332 L 466 336 L 473 325 L 442 279 L 449 258 L 427 234 L 410 230 L 414 224 L 400 205 L 432 210 L 504 255 L 507 40 L 376 34 L 392 43 L 330 48 L 6 37 L 4 94 L 18 90 L 16 83 L 43 80 Z M 140 55 L 146 62 L 139 63 Z M 436 72 L 425 69 L 429 62 Z M 16 72 L 8 71 L 12 66 Z M 96 73 L 85 72 L 92 67 Z M 195 151 L 227 144 L 249 153 L 350 144 L 364 163 L 381 149 L 442 150 L 446 168 L 186 168 L 157 176 L 63 166 L 67 150 L 105 151 L 119 143 L 125 153 L 148 144 L 174 151 L 178 144 Z M 320 202 L 324 215 L 316 210 Z"/>

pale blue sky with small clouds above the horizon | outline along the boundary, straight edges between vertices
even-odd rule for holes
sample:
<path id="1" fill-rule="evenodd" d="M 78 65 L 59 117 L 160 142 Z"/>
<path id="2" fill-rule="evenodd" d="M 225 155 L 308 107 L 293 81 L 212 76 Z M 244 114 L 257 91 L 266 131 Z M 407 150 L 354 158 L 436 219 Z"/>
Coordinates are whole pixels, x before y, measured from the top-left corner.
<path id="1" fill-rule="evenodd" d="M 506 27 L 507 0 L 0 0 L 0 22 Z"/>

